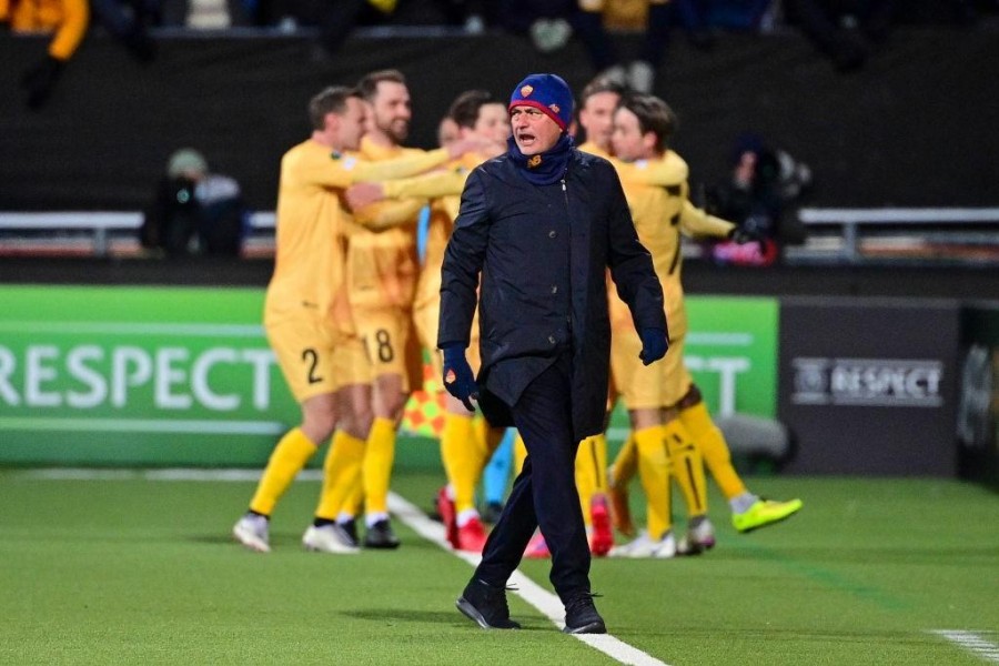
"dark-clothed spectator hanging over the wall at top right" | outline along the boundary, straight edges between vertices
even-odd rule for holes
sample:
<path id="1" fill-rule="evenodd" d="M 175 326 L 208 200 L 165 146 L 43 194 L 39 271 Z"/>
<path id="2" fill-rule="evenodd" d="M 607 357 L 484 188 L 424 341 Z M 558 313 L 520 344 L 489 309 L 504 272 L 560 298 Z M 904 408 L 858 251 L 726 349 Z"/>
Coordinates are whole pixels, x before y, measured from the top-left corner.
<path id="1" fill-rule="evenodd" d="M 894 0 L 786 0 L 797 23 L 840 72 L 859 70 L 875 47 L 888 39 Z"/>

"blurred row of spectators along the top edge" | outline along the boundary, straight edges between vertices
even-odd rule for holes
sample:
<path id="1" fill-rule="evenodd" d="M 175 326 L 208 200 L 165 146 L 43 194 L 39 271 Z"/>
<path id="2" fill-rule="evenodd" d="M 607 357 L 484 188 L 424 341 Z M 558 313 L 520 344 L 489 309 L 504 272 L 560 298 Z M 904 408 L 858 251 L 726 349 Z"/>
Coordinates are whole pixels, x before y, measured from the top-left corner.
<path id="1" fill-rule="evenodd" d="M 31 109 L 41 108 L 88 31 L 119 41 L 137 61 L 157 58 L 155 28 L 261 29 L 317 33 L 316 54 L 332 58 L 357 28 L 433 26 L 464 33 L 523 34 L 541 52 L 578 40 L 594 73 L 650 91 L 670 36 L 714 48 L 723 31 L 800 30 L 839 71 L 856 71 L 898 23 L 968 24 L 999 14 L 999 0 L 0 0 L 12 34 L 49 33 L 21 72 Z M 642 36 L 625 52 L 615 34 Z"/>

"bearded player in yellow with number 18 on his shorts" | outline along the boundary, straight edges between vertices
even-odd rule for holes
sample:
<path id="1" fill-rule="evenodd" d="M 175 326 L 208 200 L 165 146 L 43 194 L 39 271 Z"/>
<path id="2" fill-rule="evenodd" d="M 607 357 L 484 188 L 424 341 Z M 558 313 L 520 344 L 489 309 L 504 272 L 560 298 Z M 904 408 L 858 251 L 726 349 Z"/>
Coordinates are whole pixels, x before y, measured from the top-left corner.
<path id="1" fill-rule="evenodd" d="M 371 72 L 357 84 L 371 115 L 361 141 L 360 157 L 380 162 L 423 151 L 402 147 L 412 119 L 410 91 L 396 70 Z M 365 364 L 351 393 L 351 411 L 371 421 L 363 451 L 361 483 L 355 484 L 337 515 L 353 532 L 354 514 L 364 508 L 364 546 L 395 548 L 398 538 L 389 516 L 389 486 L 395 458 L 395 438 L 406 400 L 423 379 L 423 363 L 412 331 L 411 309 L 420 260 L 416 221 L 424 202 L 410 200 L 407 223 L 384 230 L 359 230 L 347 249 L 347 294 L 357 335 L 363 342 Z M 371 208 L 355 210 L 364 222 Z M 403 209 L 405 210 L 405 209 Z M 360 452 L 357 452 L 360 453 Z"/>

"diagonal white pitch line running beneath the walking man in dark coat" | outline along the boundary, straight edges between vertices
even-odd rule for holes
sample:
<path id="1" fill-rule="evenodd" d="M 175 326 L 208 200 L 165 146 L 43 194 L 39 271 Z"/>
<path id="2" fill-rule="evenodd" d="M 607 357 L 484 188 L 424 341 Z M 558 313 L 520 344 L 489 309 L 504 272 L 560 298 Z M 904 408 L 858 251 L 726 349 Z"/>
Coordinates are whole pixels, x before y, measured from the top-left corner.
<path id="1" fill-rule="evenodd" d="M 455 557 L 464 559 L 473 567 L 478 565 L 478 561 L 481 559 L 478 555 L 453 549 L 445 538 L 444 526 L 441 523 L 431 521 L 420 507 L 410 503 L 407 500 L 395 493 L 390 493 L 389 511 L 426 541 L 435 543 Z M 565 627 L 565 623 L 563 622 L 565 609 L 557 595 L 544 589 L 541 585 L 524 575 L 519 569 L 515 571 L 509 577 L 509 584 L 516 587 L 516 589 L 513 591 L 514 594 L 534 606 L 547 617 L 552 624 L 559 629 Z M 628 645 L 619 638 L 615 638 L 610 634 L 575 634 L 573 637 L 578 638 L 594 649 L 604 653 L 619 664 L 632 664 L 634 666 L 669 666 L 665 662 L 655 658 L 648 653 L 642 652 L 633 645 Z"/>

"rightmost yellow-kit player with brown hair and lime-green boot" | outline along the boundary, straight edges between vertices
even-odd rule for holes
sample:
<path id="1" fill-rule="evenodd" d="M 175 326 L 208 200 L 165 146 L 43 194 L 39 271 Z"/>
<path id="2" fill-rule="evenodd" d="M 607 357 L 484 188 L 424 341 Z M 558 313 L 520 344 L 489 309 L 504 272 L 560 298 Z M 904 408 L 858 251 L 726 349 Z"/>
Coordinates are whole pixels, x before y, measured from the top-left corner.
<path id="1" fill-rule="evenodd" d="M 670 337 L 664 363 L 648 367 L 632 363 L 629 354 L 636 353 L 642 343 L 627 329 L 632 325 L 627 309 L 612 299 L 612 372 L 634 430 L 634 444 L 622 450 L 613 476 L 620 483 L 625 467 L 635 464 L 637 452 L 637 468 L 648 501 L 647 532 L 612 551 L 612 555 L 629 557 L 672 557 L 677 552 L 670 529 L 670 471 L 687 503 L 686 548 L 714 544 L 714 529 L 706 515 L 702 454 L 730 503 L 738 529 L 775 523 L 801 507 L 799 500 L 769 502 L 746 490 L 683 363 L 687 317 L 680 282 L 680 233 L 748 239 L 738 234 L 736 225 L 707 215 L 688 201 L 687 165 L 667 145 L 674 128 L 669 107 L 653 95 L 625 95 L 614 113 L 613 150 L 625 162 L 618 164 L 618 172 L 638 236 L 652 253 L 663 283 Z"/>

